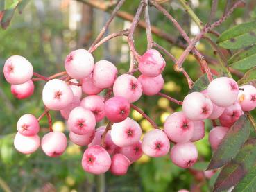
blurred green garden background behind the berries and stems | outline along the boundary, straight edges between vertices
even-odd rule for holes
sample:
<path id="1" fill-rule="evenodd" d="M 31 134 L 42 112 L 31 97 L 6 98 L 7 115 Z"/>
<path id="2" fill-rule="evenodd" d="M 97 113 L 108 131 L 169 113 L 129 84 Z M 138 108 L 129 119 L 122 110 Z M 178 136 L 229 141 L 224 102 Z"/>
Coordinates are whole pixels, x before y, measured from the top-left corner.
<path id="1" fill-rule="evenodd" d="M 4 1 L 4 0 L 0 0 Z M 17 1 L 17 0 L 16 0 Z M 97 0 L 99 1 L 99 0 Z M 11 6 L 15 0 L 6 1 L 6 8 Z M 113 3 L 114 1 L 102 1 L 101 3 Z M 210 13 L 210 0 L 189 1 L 198 17 L 205 24 Z M 122 11 L 135 14 L 139 1 L 128 0 L 121 8 Z M 187 13 L 182 9 L 178 1 L 167 1 L 162 4 L 185 28 L 189 37 L 198 33 L 198 28 L 189 19 Z M 216 18 L 221 17 L 225 8 L 225 1 L 219 1 Z M 164 30 L 177 41 L 182 41 L 176 28 L 160 12 L 153 7 L 149 9 L 151 24 Z M 34 0 L 30 1 L 22 14 L 17 11 L 6 30 L 0 30 L 0 65 L 1 69 L 5 60 L 11 55 L 23 55 L 34 67 L 34 71 L 44 76 L 64 71 L 64 60 L 66 55 L 74 49 L 87 49 L 96 35 L 108 20 L 109 14 L 94 9 L 86 4 L 73 0 Z M 256 17 L 255 2 L 248 1 L 244 9 L 234 11 L 232 17 L 224 22 L 219 28 L 223 30 L 250 21 Z M 216 20 L 216 18 L 214 20 Z M 143 19 L 143 17 L 142 17 Z M 129 26 L 128 21 L 116 18 L 112 21 L 107 35 Z M 170 44 L 161 37 L 153 35 L 155 42 L 164 46 L 168 51 L 178 58 L 182 49 L 175 44 Z M 214 37 L 212 36 L 214 40 Z M 138 28 L 135 33 L 135 44 L 137 51 L 142 54 L 146 50 L 146 31 Z M 198 49 L 206 55 L 215 57 L 210 45 L 204 40 L 197 45 Z M 110 60 L 117 64 L 119 73 L 128 70 L 130 53 L 126 43 L 126 37 L 117 37 L 103 44 L 94 52 L 94 59 Z M 182 73 L 173 71 L 173 62 L 164 55 L 167 67 L 164 70 L 163 92 L 182 100 L 189 88 Z M 216 59 L 216 57 L 215 57 Z M 185 69 L 196 80 L 202 74 L 194 56 L 189 55 Z M 211 66 L 219 71 L 219 65 Z M 0 191 L 178 191 L 179 189 L 191 189 L 191 191 L 210 191 L 214 178 L 207 180 L 202 170 L 211 158 L 211 150 L 205 138 L 196 142 L 199 157 L 198 164 L 190 170 L 184 170 L 173 165 L 169 157 L 151 159 L 143 156 L 138 162 L 130 166 L 128 174 L 116 177 L 110 173 L 94 176 L 83 171 L 80 165 L 81 157 L 85 148 L 80 148 L 72 143 L 68 144 L 64 155 L 58 158 L 46 157 L 41 149 L 32 155 L 22 155 L 15 150 L 13 138 L 17 119 L 22 114 L 31 113 L 40 116 L 44 110 L 42 104 L 42 87 L 44 82 L 35 82 L 35 93 L 30 98 L 19 101 L 10 93 L 10 85 L 3 78 L 3 70 L 0 71 Z M 138 74 L 135 73 L 135 76 Z M 234 76 L 234 78 L 236 78 Z M 169 103 L 167 99 L 160 96 L 143 96 L 135 103 L 141 107 L 146 114 L 151 116 L 162 126 L 164 119 L 180 107 Z M 58 112 L 51 112 L 53 116 L 53 129 L 62 130 L 67 134 L 65 120 Z M 142 130 L 151 130 L 151 125 L 145 119 L 131 112 L 130 116 L 140 123 Z M 40 122 L 42 131 L 40 137 L 48 129 L 46 119 Z M 209 132 L 211 123 L 206 122 L 206 132 Z"/>

